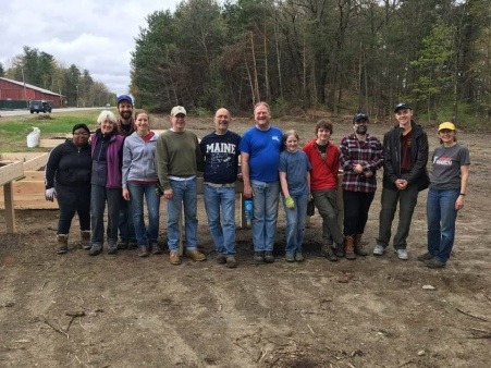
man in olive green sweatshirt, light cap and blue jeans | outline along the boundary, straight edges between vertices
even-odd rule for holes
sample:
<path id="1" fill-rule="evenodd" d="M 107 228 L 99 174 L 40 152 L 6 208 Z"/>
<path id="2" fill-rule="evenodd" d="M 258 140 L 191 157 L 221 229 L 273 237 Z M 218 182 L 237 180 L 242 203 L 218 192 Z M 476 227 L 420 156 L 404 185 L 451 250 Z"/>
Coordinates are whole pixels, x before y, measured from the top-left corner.
<path id="1" fill-rule="evenodd" d="M 171 111 L 172 127 L 159 136 L 156 151 L 156 169 L 159 182 L 167 199 L 167 231 L 171 265 L 181 265 L 179 252 L 181 208 L 184 204 L 185 255 L 194 260 L 205 260 L 198 250 L 196 233 L 197 219 L 197 180 L 198 170 L 202 171 L 202 157 L 198 137 L 187 131 L 186 110 L 175 106 Z"/>

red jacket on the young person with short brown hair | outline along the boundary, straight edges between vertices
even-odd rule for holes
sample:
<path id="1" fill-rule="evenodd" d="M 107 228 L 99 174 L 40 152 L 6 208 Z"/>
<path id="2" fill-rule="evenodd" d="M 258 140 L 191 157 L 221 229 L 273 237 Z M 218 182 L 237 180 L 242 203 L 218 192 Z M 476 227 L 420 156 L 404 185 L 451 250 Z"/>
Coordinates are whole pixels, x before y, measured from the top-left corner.
<path id="1" fill-rule="evenodd" d="M 336 145 L 329 142 L 326 159 L 322 159 L 317 149 L 317 139 L 304 146 L 304 152 L 310 161 L 310 191 L 335 189 L 337 187 L 337 172 L 340 170 L 340 150 Z"/>

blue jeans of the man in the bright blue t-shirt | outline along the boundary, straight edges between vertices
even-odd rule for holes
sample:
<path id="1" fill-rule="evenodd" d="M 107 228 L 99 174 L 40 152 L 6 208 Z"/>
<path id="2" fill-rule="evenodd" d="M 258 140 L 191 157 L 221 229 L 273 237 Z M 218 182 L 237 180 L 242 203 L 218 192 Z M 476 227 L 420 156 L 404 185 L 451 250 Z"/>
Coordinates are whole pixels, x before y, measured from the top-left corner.
<path id="1" fill-rule="evenodd" d="M 251 181 L 254 252 L 272 252 L 277 232 L 280 183 Z"/>

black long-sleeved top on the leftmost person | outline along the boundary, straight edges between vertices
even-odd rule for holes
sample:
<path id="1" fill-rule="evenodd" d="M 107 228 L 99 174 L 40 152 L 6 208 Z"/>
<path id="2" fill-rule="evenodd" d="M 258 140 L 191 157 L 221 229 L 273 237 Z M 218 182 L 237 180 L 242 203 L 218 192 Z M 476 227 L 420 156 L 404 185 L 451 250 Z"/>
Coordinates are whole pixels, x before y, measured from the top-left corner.
<path id="1" fill-rule="evenodd" d="M 72 140 L 54 147 L 46 164 L 46 188 L 53 187 L 54 181 L 64 186 L 90 186 L 90 145 L 77 148 Z"/>

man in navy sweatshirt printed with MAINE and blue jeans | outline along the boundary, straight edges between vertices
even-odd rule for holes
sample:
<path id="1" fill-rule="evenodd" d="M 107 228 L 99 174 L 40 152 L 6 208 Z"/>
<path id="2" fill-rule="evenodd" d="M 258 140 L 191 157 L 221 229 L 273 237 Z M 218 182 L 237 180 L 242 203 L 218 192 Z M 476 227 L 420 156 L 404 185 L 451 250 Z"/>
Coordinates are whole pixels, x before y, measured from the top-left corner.
<path id="1" fill-rule="evenodd" d="M 205 161 L 205 209 L 218 252 L 217 262 L 235 268 L 235 182 L 241 136 L 229 131 L 231 116 L 226 109 L 217 110 L 213 123 L 214 132 L 206 135 L 199 144 Z"/>

